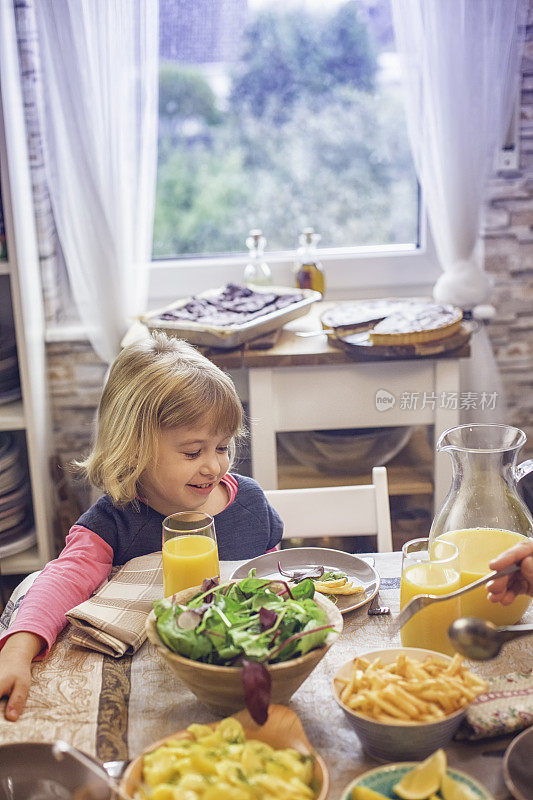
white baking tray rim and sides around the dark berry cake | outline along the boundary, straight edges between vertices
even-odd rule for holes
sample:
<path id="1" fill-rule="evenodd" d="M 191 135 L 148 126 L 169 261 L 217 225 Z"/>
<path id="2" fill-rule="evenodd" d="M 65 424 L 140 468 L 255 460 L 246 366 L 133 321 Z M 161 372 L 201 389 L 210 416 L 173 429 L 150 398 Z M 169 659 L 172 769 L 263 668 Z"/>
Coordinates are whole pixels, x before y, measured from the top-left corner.
<path id="1" fill-rule="evenodd" d="M 219 286 L 217 289 L 209 289 L 206 292 L 195 295 L 195 297 L 213 297 L 220 294 L 224 288 L 224 286 Z M 258 336 L 270 333 L 276 328 L 281 328 L 293 319 L 302 317 L 307 314 L 313 303 L 322 299 L 320 292 L 315 292 L 313 289 L 295 289 L 290 286 L 254 286 L 253 289 L 256 292 L 277 292 L 278 294 L 300 292 L 303 294 L 303 299 L 296 303 L 291 303 L 290 306 L 285 306 L 285 308 L 279 308 L 264 314 L 258 319 L 243 322 L 240 325 L 205 326 L 201 322 L 186 322 L 183 320 L 173 322 L 172 320 L 158 319 L 166 311 L 182 308 L 192 300 L 192 297 L 185 297 L 165 306 L 165 308 L 143 314 L 139 319 L 150 330 L 164 331 L 169 336 L 178 336 L 180 339 L 186 339 L 191 344 L 229 350 L 232 347 L 239 347 L 239 345 L 249 342 Z"/>

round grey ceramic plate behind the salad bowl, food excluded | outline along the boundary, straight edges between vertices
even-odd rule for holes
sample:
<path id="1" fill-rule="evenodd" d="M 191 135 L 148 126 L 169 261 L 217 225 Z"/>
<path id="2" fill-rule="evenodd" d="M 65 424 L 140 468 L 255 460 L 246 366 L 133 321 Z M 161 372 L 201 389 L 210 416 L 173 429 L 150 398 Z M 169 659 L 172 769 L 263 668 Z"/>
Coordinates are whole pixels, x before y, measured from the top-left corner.
<path id="1" fill-rule="evenodd" d="M 361 608 L 378 593 L 380 577 L 370 564 L 351 553 L 330 550 L 326 547 L 292 547 L 287 550 L 276 550 L 274 553 L 265 553 L 264 556 L 257 556 L 245 564 L 241 564 L 233 572 L 231 578 L 246 578 L 248 572 L 255 567 L 258 578 L 283 579 L 278 572 L 278 561 L 287 571 L 316 566 L 325 567 L 326 571 L 342 570 L 348 576 L 348 580 L 353 578 L 354 582 L 361 583 L 365 588 L 364 594 L 326 595 L 335 601 L 341 614 Z"/>

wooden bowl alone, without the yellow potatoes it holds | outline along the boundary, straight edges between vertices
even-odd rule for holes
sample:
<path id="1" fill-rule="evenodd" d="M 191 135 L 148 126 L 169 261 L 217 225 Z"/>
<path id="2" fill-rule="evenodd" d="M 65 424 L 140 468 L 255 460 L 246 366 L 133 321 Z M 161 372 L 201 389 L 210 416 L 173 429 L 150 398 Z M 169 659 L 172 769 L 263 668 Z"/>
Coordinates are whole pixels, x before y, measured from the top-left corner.
<path id="1" fill-rule="evenodd" d="M 311 754 L 314 758 L 313 781 L 316 790 L 315 800 L 326 800 L 329 789 L 329 775 L 326 764 L 321 756 L 313 749 L 305 735 L 302 723 L 294 711 L 285 706 L 271 705 L 268 711 L 268 719 L 264 725 L 257 725 L 247 711 L 240 711 L 233 716 L 241 723 L 244 729 L 244 735 L 247 739 L 258 739 L 260 742 L 266 742 L 266 744 L 269 744 L 276 750 L 284 750 L 285 748 L 292 747 L 300 753 Z M 214 730 L 217 725 L 217 722 L 212 722 L 209 727 Z M 150 745 L 150 747 L 146 748 L 146 750 L 135 758 L 127 767 L 120 781 L 120 787 L 126 795 L 128 797 L 134 797 L 135 791 L 141 783 L 144 755 L 161 747 L 162 744 L 170 739 L 184 739 L 189 738 L 189 736 L 186 730 L 180 731 L 172 736 L 166 736 L 159 742 Z"/>

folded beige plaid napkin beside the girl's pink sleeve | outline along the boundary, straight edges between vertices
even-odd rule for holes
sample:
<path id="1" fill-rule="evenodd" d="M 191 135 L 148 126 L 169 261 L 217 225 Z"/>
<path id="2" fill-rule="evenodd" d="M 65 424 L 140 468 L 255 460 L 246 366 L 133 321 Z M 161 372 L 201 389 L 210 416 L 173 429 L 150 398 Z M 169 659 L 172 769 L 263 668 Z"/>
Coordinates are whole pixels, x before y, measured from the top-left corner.
<path id="1" fill-rule="evenodd" d="M 70 641 L 120 658 L 135 653 L 146 638 L 152 602 L 163 597 L 161 553 L 132 558 L 88 600 L 71 608 Z"/>

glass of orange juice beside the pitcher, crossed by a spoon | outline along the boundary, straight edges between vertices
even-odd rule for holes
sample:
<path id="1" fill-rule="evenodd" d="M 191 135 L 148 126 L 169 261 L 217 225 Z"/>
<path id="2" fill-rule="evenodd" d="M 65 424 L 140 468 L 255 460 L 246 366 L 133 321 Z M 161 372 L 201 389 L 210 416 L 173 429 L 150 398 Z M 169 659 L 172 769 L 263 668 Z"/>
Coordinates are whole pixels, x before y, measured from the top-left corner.
<path id="1" fill-rule="evenodd" d="M 420 594 L 448 594 L 460 586 L 459 550 L 452 542 L 412 539 L 402 547 L 400 608 Z M 448 628 L 461 616 L 459 598 L 433 603 L 415 614 L 401 631 L 404 647 L 454 654 Z"/>

